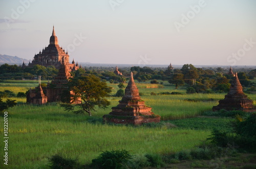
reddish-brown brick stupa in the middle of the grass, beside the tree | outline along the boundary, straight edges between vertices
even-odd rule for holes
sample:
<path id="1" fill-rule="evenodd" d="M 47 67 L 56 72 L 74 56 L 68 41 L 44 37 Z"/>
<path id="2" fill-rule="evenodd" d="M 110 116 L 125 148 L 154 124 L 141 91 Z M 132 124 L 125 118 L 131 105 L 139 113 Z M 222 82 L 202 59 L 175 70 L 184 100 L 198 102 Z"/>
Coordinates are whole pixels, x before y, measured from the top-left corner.
<path id="1" fill-rule="evenodd" d="M 145 106 L 144 101 L 140 99 L 139 90 L 134 82 L 133 73 L 131 73 L 130 81 L 119 105 L 112 107 L 112 112 L 103 115 L 103 119 L 104 122 L 116 124 L 159 123 L 160 116 L 154 114 L 151 109 L 151 107 Z"/>

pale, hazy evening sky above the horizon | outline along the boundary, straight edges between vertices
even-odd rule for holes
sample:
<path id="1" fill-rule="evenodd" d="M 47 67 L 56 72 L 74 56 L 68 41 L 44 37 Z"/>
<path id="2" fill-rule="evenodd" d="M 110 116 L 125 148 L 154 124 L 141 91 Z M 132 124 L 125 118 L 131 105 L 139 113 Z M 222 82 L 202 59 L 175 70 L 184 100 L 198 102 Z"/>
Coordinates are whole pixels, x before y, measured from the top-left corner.
<path id="1" fill-rule="evenodd" d="M 0 54 L 32 60 L 53 25 L 78 63 L 256 65 L 254 0 L 0 0 Z"/>

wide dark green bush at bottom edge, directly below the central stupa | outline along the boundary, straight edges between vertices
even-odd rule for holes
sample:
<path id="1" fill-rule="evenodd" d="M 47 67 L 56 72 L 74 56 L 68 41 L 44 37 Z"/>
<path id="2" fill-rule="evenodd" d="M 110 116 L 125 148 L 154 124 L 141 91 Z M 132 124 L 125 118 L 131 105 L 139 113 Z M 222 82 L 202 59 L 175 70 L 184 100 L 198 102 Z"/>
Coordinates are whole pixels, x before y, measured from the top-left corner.
<path id="1" fill-rule="evenodd" d="M 98 158 L 92 160 L 91 166 L 94 168 L 123 168 L 127 165 L 132 156 L 126 150 L 112 150 L 102 152 Z"/>

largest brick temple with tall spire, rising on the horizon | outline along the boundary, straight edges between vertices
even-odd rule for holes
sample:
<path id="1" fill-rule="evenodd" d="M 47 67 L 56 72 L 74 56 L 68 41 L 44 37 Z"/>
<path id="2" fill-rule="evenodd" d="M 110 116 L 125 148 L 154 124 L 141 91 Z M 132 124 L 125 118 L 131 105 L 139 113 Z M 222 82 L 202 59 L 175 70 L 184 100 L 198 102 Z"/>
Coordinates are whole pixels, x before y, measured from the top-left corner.
<path id="1" fill-rule="evenodd" d="M 67 65 L 69 71 L 77 70 L 79 68 L 78 63 L 75 64 L 74 60 L 72 63 L 69 62 L 68 51 L 65 52 L 65 50 L 59 46 L 54 27 L 52 30 L 52 36 L 50 37 L 50 44 L 43 48 L 42 51 L 40 51 L 38 54 L 36 54 L 28 66 L 32 67 L 36 64 L 42 66 L 53 65 L 57 69 L 60 68 L 61 64 L 64 64 Z"/>

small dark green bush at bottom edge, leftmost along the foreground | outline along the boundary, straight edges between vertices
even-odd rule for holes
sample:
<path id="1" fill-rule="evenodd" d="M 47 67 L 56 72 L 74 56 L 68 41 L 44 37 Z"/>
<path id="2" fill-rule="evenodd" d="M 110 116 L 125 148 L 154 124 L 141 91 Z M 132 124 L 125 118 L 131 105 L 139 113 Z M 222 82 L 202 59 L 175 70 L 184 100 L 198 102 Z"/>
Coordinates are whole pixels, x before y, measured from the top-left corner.
<path id="1" fill-rule="evenodd" d="M 52 169 L 75 169 L 80 165 L 77 158 L 65 158 L 58 154 L 49 157 L 48 160 Z"/>

